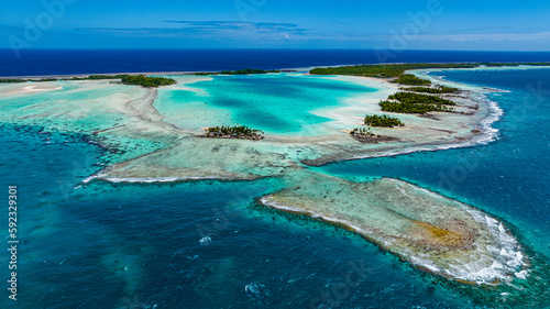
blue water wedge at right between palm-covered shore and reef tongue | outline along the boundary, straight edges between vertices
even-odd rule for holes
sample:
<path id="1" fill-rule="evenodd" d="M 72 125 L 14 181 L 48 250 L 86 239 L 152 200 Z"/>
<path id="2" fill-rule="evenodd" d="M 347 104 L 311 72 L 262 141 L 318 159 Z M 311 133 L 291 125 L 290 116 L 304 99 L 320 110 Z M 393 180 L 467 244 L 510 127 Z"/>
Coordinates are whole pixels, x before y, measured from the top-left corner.
<path id="1" fill-rule="evenodd" d="M 490 95 L 490 99 L 497 101 L 505 111 L 503 119 L 493 124 L 499 130 L 495 143 L 334 163 L 322 169 L 352 178 L 387 176 L 420 184 L 505 216 L 515 224 L 535 224 L 535 229 L 521 231 L 538 231 L 534 241 L 550 243 L 550 221 L 543 214 L 550 202 L 550 177 L 546 168 L 550 135 L 542 129 L 550 118 L 550 70 L 444 71 L 432 75 L 512 91 Z M 531 89 L 538 90 L 531 92 Z M 540 245 L 540 249 L 550 256 L 548 245 Z"/>

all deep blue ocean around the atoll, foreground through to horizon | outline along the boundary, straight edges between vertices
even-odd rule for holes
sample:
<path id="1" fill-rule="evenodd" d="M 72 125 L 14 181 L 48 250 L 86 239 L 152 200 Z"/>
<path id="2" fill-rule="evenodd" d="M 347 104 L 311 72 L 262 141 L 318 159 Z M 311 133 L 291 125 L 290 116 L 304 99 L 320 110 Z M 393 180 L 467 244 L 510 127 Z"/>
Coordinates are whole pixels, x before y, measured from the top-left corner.
<path id="1" fill-rule="evenodd" d="M 72 52 L 28 51 L 18 63 L 7 65 L 0 57 L 0 75 L 373 62 L 370 56 L 361 58 L 355 51 L 337 59 L 330 58 L 333 51 L 286 52 L 289 56 L 278 59 L 271 52 L 262 52 L 248 60 L 237 52 L 228 52 L 232 56 L 202 64 L 201 58 L 213 56 L 185 52 L 195 56 L 186 60 L 173 54 L 180 59 L 174 63 L 175 58 L 151 59 L 140 54 L 145 52 L 135 52 L 127 62 L 116 63 L 123 52 L 112 53 L 109 57 L 108 52 L 79 52 L 80 56 L 76 56 Z M 402 62 L 550 59 L 549 53 L 403 55 Z M 319 168 L 355 179 L 396 177 L 468 202 L 507 222 L 534 256 L 550 258 L 550 69 L 432 74 L 509 91 L 490 96 L 504 110 L 501 121 L 493 125 L 499 129 L 495 142 Z M 0 184 L 6 201 L 8 186 L 18 186 L 21 240 L 19 300 L 15 305 L 8 300 L 4 290 L 0 308 L 550 306 L 537 302 L 548 300 L 548 295 L 493 302 L 483 290 L 425 274 L 353 233 L 255 206 L 254 197 L 273 190 L 271 179 L 81 186 L 84 178 L 101 168 L 97 163 L 105 151 L 88 143 L 87 136 L 45 136 L 38 132 L 40 128 L 0 126 Z M 7 235 L 7 223 L 0 227 Z M 2 243 L 7 246 L 6 241 Z M 6 250 L 1 252 L 0 258 L 8 261 Z M 8 274 L 7 267 L 0 269 L 2 283 L 8 280 Z M 349 278 L 356 284 L 348 284 Z M 548 284 L 548 278 L 541 279 Z"/>

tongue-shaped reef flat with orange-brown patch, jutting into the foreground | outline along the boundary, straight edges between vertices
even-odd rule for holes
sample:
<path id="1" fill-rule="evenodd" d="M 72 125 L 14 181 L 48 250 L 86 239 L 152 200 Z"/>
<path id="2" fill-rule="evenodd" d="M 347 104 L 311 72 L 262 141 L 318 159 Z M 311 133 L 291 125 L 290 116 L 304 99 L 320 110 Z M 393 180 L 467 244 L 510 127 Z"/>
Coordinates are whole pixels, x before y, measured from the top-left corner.
<path id="1" fill-rule="evenodd" d="M 296 175 L 261 205 L 308 214 L 354 231 L 410 264 L 470 284 L 522 279 L 527 261 L 502 222 L 465 203 L 409 183 L 351 183 Z"/>

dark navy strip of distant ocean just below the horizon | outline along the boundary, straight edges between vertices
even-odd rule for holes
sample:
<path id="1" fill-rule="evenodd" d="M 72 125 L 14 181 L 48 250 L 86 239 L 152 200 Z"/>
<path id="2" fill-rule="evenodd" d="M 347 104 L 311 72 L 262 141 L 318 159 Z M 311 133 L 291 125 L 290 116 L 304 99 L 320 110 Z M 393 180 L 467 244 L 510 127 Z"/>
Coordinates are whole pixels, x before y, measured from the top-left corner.
<path id="1" fill-rule="evenodd" d="M 548 62 L 550 52 L 372 49 L 0 49 L 0 76 L 278 69 L 387 63 Z"/>

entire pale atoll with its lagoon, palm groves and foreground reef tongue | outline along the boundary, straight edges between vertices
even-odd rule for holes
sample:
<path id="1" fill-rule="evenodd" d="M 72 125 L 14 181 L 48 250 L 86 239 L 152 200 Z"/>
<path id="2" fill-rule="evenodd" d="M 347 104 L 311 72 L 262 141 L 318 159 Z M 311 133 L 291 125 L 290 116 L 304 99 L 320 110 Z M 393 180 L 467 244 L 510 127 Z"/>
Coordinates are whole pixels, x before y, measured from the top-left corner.
<path id="1" fill-rule="evenodd" d="M 498 289 L 537 275 L 506 222 L 404 180 L 352 181 L 315 168 L 494 140 L 491 124 L 502 111 L 483 98 L 499 90 L 441 86 L 426 74 L 482 66 L 487 64 L 89 76 L 32 85 L 6 79 L 0 119 L 82 134 L 101 145 L 105 168 L 82 186 L 274 179 L 257 203 L 351 230 L 437 276 Z M 258 75 L 242 76 L 248 74 Z M 257 82 L 262 78 L 270 82 Z"/>

